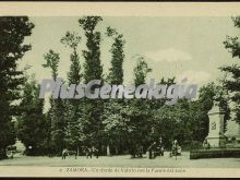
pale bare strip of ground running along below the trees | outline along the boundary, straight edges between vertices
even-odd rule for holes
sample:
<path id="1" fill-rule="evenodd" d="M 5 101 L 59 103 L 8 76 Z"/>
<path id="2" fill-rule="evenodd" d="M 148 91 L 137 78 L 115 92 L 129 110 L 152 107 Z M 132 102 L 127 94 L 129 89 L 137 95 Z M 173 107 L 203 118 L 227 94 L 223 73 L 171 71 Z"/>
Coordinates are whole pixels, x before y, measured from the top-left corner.
<path id="1" fill-rule="evenodd" d="M 130 158 L 130 156 L 100 156 L 98 159 L 93 157 L 87 159 L 85 156 L 69 156 L 67 159 L 61 157 L 47 156 L 15 156 L 13 159 L 0 160 L 0 166 L 47 166 L 47 167 L 156 167 L 156 168 L 239 168 L 240 158 L 208 158 L 190 159 L 189 152 L 183 152 L 181 156 L 169 157 L 169 152 L 165 152 L 164 157 L 156 159 Z"/>

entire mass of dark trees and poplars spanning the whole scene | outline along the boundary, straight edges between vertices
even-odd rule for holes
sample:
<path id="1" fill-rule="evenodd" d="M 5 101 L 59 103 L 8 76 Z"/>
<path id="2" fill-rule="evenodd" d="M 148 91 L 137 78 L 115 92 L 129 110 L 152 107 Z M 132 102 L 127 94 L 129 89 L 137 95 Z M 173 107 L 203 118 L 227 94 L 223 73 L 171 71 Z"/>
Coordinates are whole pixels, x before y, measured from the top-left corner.
<path id="1" fill-rule="evenodd" d="M 104 21 L 100 16 L 84 16 L 79 20 L 80 31 L 84 32 L 86 49 L 79 51 L 82 37 L 75 32 L 67 32 L 60 43 L 71 50 L 70 70 L 65 83 L 88 83 L 103 80 L 109 84 L 124 81 L 125 39 L 112 27 L 97 31 Z M 239 19 L 233 19 L 239 27 Z M 50 108 L 43 113 L 44 100 L 38 98 L 39 85 L 23 72 L 17 71 L 16 62 L 29 45 L 23 45 L 31 35 L 34 24 L 27 17 L 1 17 L 1 65 L 0 65 L 0 155 L 5 155 L 8 145 L 14 144 L 17 136 L 26 146 L 26 155 L 59 155 L 63 148 L 83 152 L 84 146 L 94 145 L 100 154 L 132 154 L 139 146 L 146 148 L 163 137 L 166 148 L 177 139 L 185 148 L 199 147 L 208 132 L 207 112 L 214 101 L 225 109 L 226 120 L 230 119 L 229 99 L 235 103 L 236 119 L 239 120 L 239 65 L 223 67 L 232 74 L 225 76 L 221 84 L 209 83 L 199 91 L 199 99 L 179 99 L 175 105 L 165 105 L 167 99 L 60 99 L 50 97 Z M 21 27 L 21 28 L 20 28 Z M 104 36 L 105 34 L 105 36 Z M 111 61 L 109 73 L 104 74 L 100 59 L 100 43 L 111 39 Z M 238 38 L 230 38 L 225 46 L 231 49 L 232 57 L 239 57 Z M 146 82 L 152 71 L 144 57 L 137 56 L 134 84 Z M 61 55 L 50 49 L 44 55 L 43 67 L 51 71 L 53 80 L 59 77 Z M 161 77 L 158 84 L 176 84 L 175 77 Z M 94 89 L 93 89 L 94 91 Z M 21 95 L 22 92 L 22 95 Z M 229 94 L 231 92 L 231 94 Z M 55 95 L 53 95 L 55 96 Z M 21 99 L 20 106 L 12 106 Z M 14 115 L 17 112 L 17 115 Z M 17 116 L 16 130 L 12 117 Z M 15 135 L 16 134 L 16 135 Z M 31 147 L 31 148 L 28 148 Z"/>

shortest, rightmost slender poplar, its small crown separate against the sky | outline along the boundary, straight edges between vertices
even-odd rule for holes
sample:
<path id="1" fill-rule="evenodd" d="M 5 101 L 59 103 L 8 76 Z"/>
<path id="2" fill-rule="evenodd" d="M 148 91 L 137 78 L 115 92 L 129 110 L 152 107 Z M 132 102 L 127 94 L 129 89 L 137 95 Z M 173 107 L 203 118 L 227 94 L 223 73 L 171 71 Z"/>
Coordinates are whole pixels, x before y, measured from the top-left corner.
<path id="1" fill-rule="evenodd" d="M 152 71 L 148 64 L 144 60 L 144 57 L 137 57 L 136 67 L 134 68 L 134 84 L 139 86 L 145 84 L 147 74 Z M 146 144 L 146 139 L 149 135 L 149 104 L 147 99 L 131 99 L 129 108 L 130 121 L 129 127 L 129 141 L 130 153 L 134 157 L 140 146 Z M 148 124 L 148 125 L 147 125 Z"/>

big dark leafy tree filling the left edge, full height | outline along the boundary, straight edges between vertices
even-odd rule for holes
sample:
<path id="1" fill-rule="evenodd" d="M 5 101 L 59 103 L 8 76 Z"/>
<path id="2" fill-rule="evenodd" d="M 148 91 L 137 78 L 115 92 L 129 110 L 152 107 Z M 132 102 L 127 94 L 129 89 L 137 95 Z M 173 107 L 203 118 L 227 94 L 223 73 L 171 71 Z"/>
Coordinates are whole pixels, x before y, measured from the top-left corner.
<path id="1" fill-rule="evenodd" d="M 31 49 L 24 39 L 32 34 L 34 24 L 27 16 L 0 17 L 0 158 L 5 157 L 5 147 L 14 143 L 12 116 L 20 115 L 13 101 L 21 98 L 24 84 L 23 72 L 17 63 Z"/>

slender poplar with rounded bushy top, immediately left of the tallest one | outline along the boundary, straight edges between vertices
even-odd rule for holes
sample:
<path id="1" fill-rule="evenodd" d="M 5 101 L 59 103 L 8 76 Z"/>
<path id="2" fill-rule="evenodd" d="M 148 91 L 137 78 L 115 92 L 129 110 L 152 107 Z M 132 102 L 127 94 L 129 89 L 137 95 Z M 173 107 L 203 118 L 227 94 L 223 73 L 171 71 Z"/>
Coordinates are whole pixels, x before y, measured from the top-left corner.
<path id="1" fill-rule="evenodd" d="M 71 49 L 70 60 L 70 71 L 68 72 L 68 82 L 71 84 L 80 84 L 82 80 L 80 56 L 76 51 L 79 44 L 81 43 L 81 37 L 76 33 L 67 32 L 65 36 L 62 37 L 61 43 Z M 82 140 L 82 99 L 69 99 L 68 105 L 68 143 L 70 147 L 76 147 L 79 154 L 79 146 Z"/>

